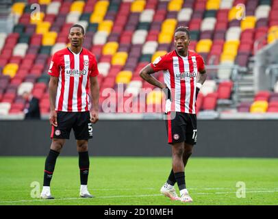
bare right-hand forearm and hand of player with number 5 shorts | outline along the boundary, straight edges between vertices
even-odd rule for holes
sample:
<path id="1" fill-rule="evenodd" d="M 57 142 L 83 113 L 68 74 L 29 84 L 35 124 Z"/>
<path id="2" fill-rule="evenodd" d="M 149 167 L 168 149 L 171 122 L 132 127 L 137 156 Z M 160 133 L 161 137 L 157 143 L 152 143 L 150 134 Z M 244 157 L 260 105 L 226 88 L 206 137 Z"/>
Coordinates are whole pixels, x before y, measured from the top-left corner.
<path id="1" fill-rule="evenodd" d="M 90 109 L 91 123 L 97 123 L 99 120 L 99 83 L 97 76 L 90 77 L 90 92 L 92 96 L 92 108 Z"/>

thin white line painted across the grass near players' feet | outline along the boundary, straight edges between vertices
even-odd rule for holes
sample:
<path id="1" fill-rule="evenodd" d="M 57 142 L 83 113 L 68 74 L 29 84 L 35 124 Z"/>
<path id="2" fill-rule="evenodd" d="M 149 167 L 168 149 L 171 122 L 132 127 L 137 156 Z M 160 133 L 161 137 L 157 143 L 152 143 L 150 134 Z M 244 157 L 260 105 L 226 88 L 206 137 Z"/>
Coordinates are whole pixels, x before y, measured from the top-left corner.
<path id="1" fill-rule="evenodd" d="M 278 192 L 278 190 L 262 190 L 262 191 L 246 191 L 246 193 L 270 193 Z M 192 193 L 194 195 L 211 195 L 211 194 L 236 194 L 236 192 L 197 192 Z M 162 194 L 141 194 L 133 196 L 99 196 L 98 198 L 131 198 L 131 197 L 145 197 L 145 196 L 162 196 Z M 94 199 L 94 198 L 93 198 Z M 92 199 L 92 200 L 93 200 Z M 18 201 L 0 201 L 0 203 L 23 203 L 23 202 L 34 202 L 34 201 L 66 201 L 66 200 L 84 200 L 84 198 L 55 198 L 50 200 L 45 199 L 34 199 L 34 200 L 18 200 Z"/>

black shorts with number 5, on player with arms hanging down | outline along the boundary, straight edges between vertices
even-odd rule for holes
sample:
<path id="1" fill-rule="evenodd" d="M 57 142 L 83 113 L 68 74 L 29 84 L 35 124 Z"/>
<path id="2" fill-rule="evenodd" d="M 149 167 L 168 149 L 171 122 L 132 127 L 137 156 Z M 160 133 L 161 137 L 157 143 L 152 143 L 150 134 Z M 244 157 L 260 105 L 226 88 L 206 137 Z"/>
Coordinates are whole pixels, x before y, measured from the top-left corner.
<path id="1" fill-rule="evenodd" d="M 58 112 L 58 126 L 52 126 L 51 138 L 69 139 L 71 129 L 75 133 L 76 140 L 88 140 L 92 138 L 92 123 L 90 112 Z"/>

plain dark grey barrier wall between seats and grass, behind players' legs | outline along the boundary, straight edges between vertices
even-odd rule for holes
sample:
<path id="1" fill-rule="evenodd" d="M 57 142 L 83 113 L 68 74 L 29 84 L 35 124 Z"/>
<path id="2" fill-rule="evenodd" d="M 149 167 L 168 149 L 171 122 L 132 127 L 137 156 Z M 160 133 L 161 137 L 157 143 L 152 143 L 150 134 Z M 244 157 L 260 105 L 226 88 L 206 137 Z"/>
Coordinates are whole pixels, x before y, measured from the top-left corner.
<path id="1" fill-rule="evenodd" d="M 164 120 L 101 120 L 92 156 L 170 156 Z M 46 156 L 48 121 L 0 121 L 0 155 Z M 73 131 L 61 155 L 77 155 Z M 277 120 L 199 120 L 195 157 L 278 157 Z"/>

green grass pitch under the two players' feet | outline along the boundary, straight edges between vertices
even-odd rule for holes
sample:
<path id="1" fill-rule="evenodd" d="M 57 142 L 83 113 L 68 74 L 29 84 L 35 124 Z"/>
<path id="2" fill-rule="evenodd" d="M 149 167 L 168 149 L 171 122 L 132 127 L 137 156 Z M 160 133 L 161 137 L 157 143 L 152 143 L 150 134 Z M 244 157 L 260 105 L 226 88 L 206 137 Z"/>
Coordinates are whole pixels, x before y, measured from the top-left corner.
<path id="1" fill-rule="evenodd" d="M 160 195 L 170 157 L 90 157 L 90 199 L 78 197 L 77 157 L 58 157 L 54 200 L 31 198 L 44 165 L 45 157 L 0 157 L 0 205 L 278 205 L 278 159 L 192 157 L 186 185 L 194 202 L 186 204 Z"/>

